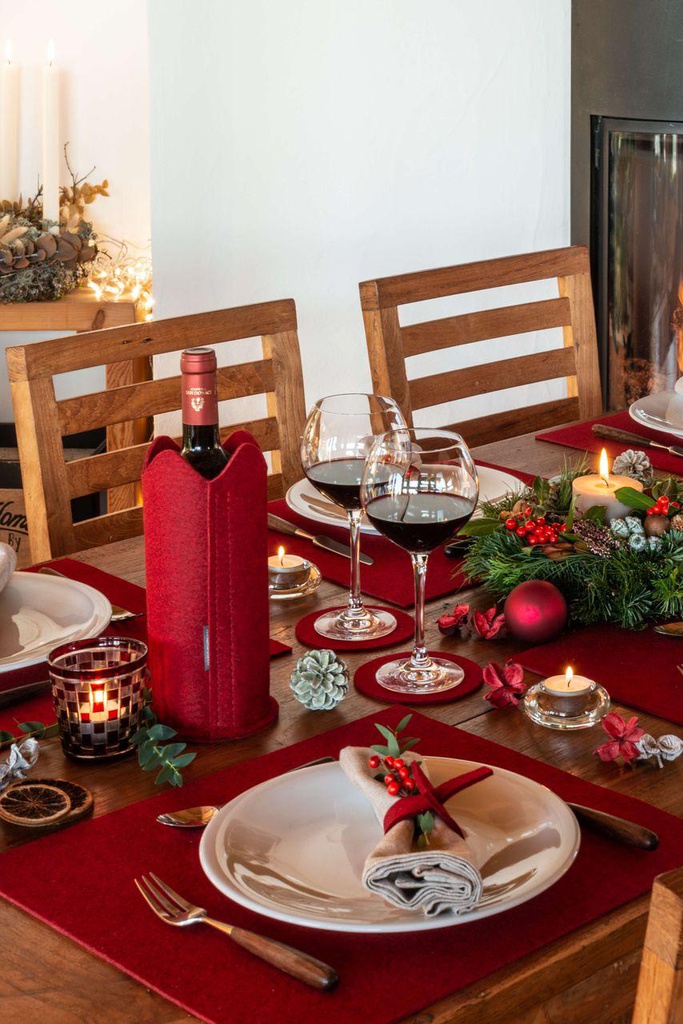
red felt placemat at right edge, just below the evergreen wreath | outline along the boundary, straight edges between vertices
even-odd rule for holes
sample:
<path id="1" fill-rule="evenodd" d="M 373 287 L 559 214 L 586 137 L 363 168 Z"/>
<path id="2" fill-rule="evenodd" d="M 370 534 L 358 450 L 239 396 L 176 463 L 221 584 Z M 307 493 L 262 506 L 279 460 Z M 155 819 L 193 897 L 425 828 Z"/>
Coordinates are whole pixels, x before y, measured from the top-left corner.
<path id="1" fill-rule="evenodd" d="M 613 700 L 683 725 L 683 639 L 653 630 L 591 626 L 515 655 L 541 676 L 574 672 L 601 683 Z"/>

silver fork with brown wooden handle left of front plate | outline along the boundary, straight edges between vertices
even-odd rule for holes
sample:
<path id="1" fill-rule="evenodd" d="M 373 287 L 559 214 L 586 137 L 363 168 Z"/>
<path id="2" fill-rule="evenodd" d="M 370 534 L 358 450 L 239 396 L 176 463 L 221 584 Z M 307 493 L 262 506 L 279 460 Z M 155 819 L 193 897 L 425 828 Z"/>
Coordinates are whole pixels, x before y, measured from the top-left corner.
<path id="1" fill-rule="evenodd" d="M 264 935 L 248 932 L 244 928 L 238 928 L 237 925 L 214 921 L 204 907 L 188 903 L 152 871 L 148 876 L 143 874 L 141 880 L 133 881 L 157 916 L 167 925 L 178 925 L 181 928 L 184 925 L 211 925 L 249 952 L 313 988 L 329 991 L 339 981 L 337 972 L 333 968 L 315 959 L 314 956 L 309 956 L 308 953 L 287 946 L 284 942 L 276 942 L 275 939 L 268 939 Z"/>

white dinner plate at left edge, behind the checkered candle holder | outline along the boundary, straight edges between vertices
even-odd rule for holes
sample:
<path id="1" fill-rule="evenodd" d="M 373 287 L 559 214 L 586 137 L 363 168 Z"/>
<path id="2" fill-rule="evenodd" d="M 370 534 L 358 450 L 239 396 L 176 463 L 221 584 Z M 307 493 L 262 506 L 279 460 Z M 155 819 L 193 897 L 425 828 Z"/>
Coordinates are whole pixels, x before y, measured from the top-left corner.
<path id="1" fill-rule="evenodd" d="M 112 605 L 94 587 L 14 572 L 0 594 L 0 674 L 37 665 L 59 644 L 99 636 L 111 617 Z"/>

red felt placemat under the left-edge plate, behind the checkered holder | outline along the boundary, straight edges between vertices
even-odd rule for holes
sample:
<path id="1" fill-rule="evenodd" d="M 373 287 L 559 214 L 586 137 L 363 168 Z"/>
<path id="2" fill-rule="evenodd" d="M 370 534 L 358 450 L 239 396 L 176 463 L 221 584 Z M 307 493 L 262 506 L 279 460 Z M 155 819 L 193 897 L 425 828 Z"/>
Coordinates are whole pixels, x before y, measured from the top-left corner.
<path id="1" fill-rule="evenodd" d="M 71 580 L 78 580 L 79 583 L 88 584 L 95 590 L 104 594 L 114 604 L 119 604 L 130 611 L 144 611 L 144 588 L 138 587 L 119 577 L 103 572 L 85 562 L 78 562 L 74 558 L 58 558 L 52 562 L 43 564 L 63 572 Z M 27 571 L 38 571 L 40 565 L 34 565 Z M 144 615 L 139 618 L 128 618 L 122 623 L 112 623 L 104 631 L 108 636 L 134 637 L 137 640 L 146 640 L 146 628 Z M 270 640 L 270 657 L 278 657 L 281 654 L 288 654 L 292 650 L 287 644 L 280 640 Z M 4 690 L 12 689 L 14 686 L 24 686 L 29 683 L 39 682 L 47 678 L 47 667 L 44 662 L 39 665 L 30 666 L 27 669 L 17 669 L 15 672 L 6 672 L 0 675 L 0 693 Z M 54 720 L 52 710 L 52 694 L 49 690 L 29 697 L 26 700 L 12 705 L 9 708 L 0 710 L 0 730 L 16 733 L 17 722 L 43 722 L 47 724 Z"/>

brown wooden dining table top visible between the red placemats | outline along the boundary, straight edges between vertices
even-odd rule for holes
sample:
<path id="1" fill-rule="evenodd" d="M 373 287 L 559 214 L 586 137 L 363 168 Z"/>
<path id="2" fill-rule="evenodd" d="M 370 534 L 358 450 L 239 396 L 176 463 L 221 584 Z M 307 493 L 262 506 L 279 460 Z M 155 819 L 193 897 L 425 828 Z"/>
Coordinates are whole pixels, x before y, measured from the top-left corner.
<path id="1" fill-rule="evenodd" d="M 502 440 L 475 451 L 485 462 L 546 476 L 556 473 L 565 458 L 580 454 L 556 444 L 537 441 L 533 434 Z M 93 548 L 74 556 L 132 583 L 144 584 L 141 538 Z M 405 571 L 410 571 L 408 559 Z M 342 588 L 324 582 L 304 602 L 272 604 L 270 635 L 293 647 L 293 654 L 271 663 L 271 691 L 280 702 L 280 719 L 265 732 L 241 741 L 202 745 L 185 769 L 187 780 L 229 765 L 297 743 L 315 733 L 351 722 L 380 707 L 353 688 L 334 711 L 310 713 L 299 705 L 289 687 L 289 677 L 303 648 L 294 630 L 298 618 L 315 607 L 339 603 Z M 495 645 L 479 639 L 442 637 L 437 617 L 453 607 L 454 596 L 427 606 L 427 641 L 431 649 L 463 654 L 480 665 L 514 655 L 522 645 L 506 638 Z M 480 588 L 458 595 L 458 602 L 474 607 L 492 604 Z M 404 645 L 403 645 L 404 646 Z M 368 657 L 344 655 L 351 673 Z M 533 677 L 529 676 L 533 681 Z M 419 709 L 442 722 L 495 740 L 574 775 L 674 814 L 683 815 L 683 758 L 661 771 L 629 769 L 603 763 L 593 756 L 601 742 L 599 729 L 557 732 L 533 725 L 516 709 L 495 710 L 478 691 L 454 703 Z M 618 705 L 622 715 L 632 712 Z M 640 714 L 647 732 L 676 731 L 666 721 Z M 604 737 L 603 737 L 604 738 Z M 115 764 L 88 764 L 63 757 L 57 739 L 41 742 L 42 776 L 73 779 L 95 796 L 96 815 L 153 796 L 151 773 L 143 773 L 134 758 Z M 30 841 L 27 840 L 27 841 Z M 17 840 L 12 839 L 12 842 Z M 0 827 L 0 851 L 10 840 Z M 683 850 L 681 851 L 683 863 Z M 2 864 L 0 860 L 0 871 Z M 200 870 L 198 862 L 198 871 Z M 643 896 L 570 933 L 537 953 L 499 970 L 469 988 L 407 1018 L 413 1024 L 607 1024 L 631 1019 L 643 945 L 648 898 Z M 227 912 L 227 908 L 226 908 Z M 267 933 L 267 919 L 262 931 Z M 416 979 L 416 984 L 419 980 Z M 96 993 L 96 998 L 93 998 Z M 146 990 L 118 969 L 6 902 L 0 902 L 0 1021 L 3 1024 L 171 1024 L 194 1020 L 162 996 Z"/>

